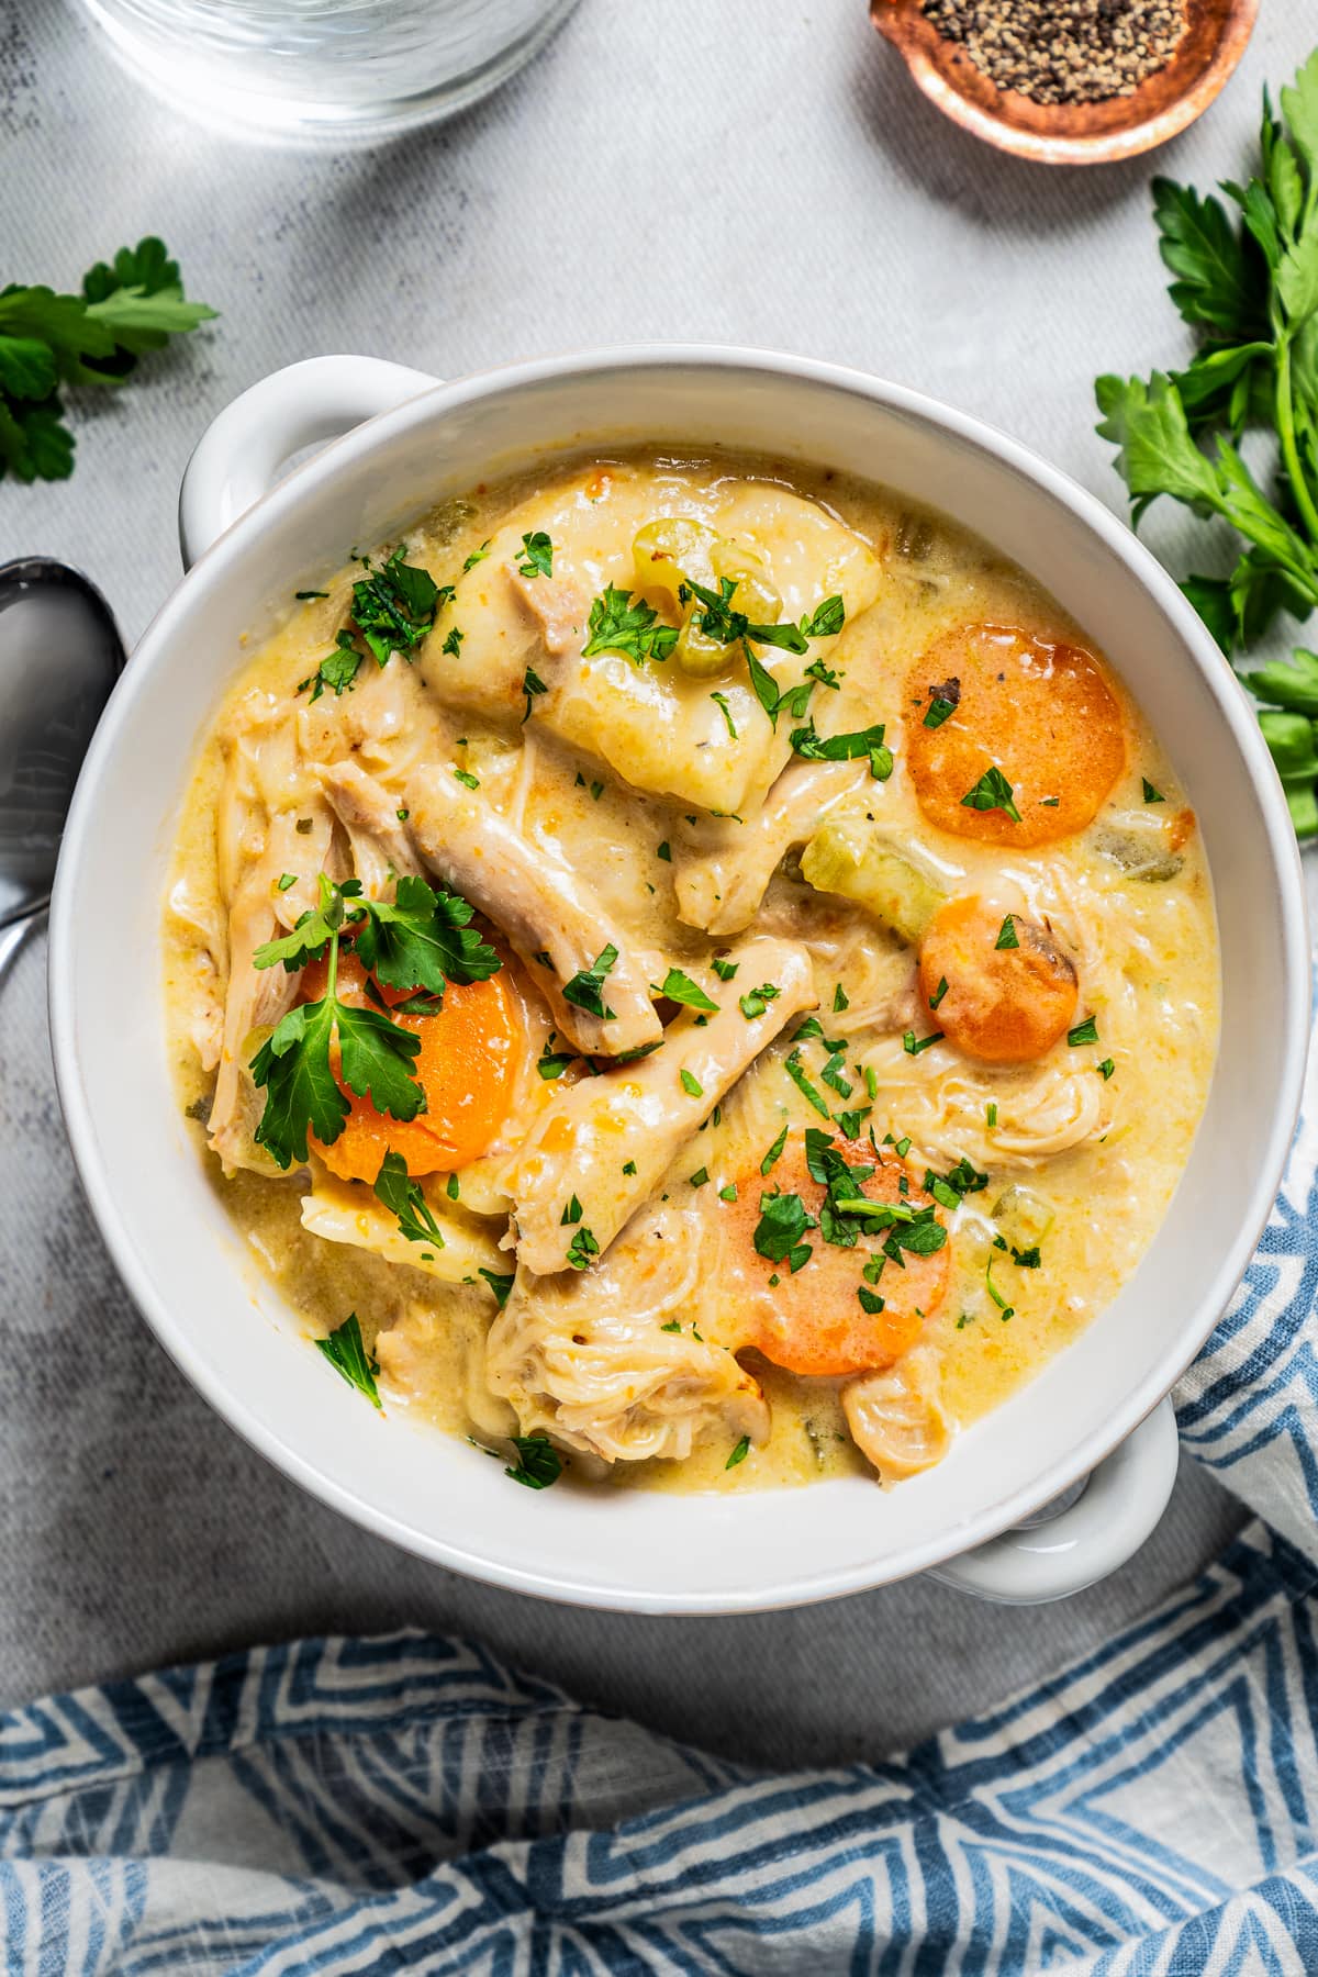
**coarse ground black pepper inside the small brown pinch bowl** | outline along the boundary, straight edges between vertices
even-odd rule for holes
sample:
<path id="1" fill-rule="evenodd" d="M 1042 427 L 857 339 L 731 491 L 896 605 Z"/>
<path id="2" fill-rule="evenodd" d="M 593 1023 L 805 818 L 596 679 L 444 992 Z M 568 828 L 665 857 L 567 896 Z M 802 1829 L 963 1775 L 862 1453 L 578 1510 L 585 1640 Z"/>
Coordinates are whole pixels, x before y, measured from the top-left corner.
<path id="1" fill-rule="evenodd" d="M 1186 0 L 921 0 L 998 89 L 1033 103 L 1128 97 L 1176 53 Z"/>

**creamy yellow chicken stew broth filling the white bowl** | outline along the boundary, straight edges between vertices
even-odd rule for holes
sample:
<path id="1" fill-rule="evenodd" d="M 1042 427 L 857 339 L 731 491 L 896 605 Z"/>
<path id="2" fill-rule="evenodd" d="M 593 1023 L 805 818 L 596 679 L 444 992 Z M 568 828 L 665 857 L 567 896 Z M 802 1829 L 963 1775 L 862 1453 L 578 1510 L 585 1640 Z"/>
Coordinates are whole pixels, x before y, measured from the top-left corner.
<path id="1" fill-rule="evenodd" d="M 735 607 L 755 581 L 779 593 L 783 623 L 808 619 L 828 597 L 846 599 L 840 633 L 810 637 L 804 654 L 753 645 L 783 692 L 802 688 L 777 728 L 739 645 L 694 652 L 707 672 L 686 670 L 680 652 L 658 662 L 583 652 L 587 607 L 609 583 L 648 599 L 658 625 L 696 609 L 690 595 L 674 601 L 662 587 L 638 589 L 632 540 L 664 516 L 703 522 L 751 552 L 753 577 L 739 579 Z M 551 571 L 535 569 L 532 558 L 524 575 L 528 538 L 537 532 L 551 542 Z M 1111 1303 L 1184 1170 L 1213 1068 L 1217 947 L 1199 834 L 1166 753 L 1083 629 L 1037 581 L 947 520 L 869 484 L 731 457 L 569 461 L 435 510 L 405 544 L 409 565 L 456 587 L 435 631 L 383 668 L 368 652 L 348 690 L 328 686 L 312 704 L 316 668 L 336 650 L 362 561 L 328 583 L 328 597 L 292 605 L 225 696 L 178 828 L 164 915 L 168 1044 L 198 1155 L 251 1257 L 308 1332 L 324 1336 L 358 1315 L 389 1416 L 407 1412 L 498 1451 L 510 1435 L 549 1433 L 579 1479 L 747 1489 L 873 1475 L 875 1467 L 891 1481 L 923 1467 Z M 290 591 L 298 581 L 302 573 L 290 571 Z M 1002 639 L 1010 631 L 1016 656 L 1022 641 L 1041 641 L 1039 652 L 1075 646 L 1093 654 L 1093 692 L 1111 696 L 1118 767 L 1081 828 L 1012 842 L 1002 809 L 962 805 L 966 822 L 952 813 L 952 828 L 927 815 L 929 797 L 917 791 L 911 765 L 921 751 L 929 755 L 935 735 L 954 747 L 970 720 L 962 682 L 943 664 L 964 650 L 966 627 L 1006 629 L 994 633 Z M 806 664 L 818 668 L 808 678 Z M 931 728 L 927 716 L 941 700 L 947 714 Z M 820 761 L 816 797 L 802 781 L 814 763 L 788 751 L 788 735 L 806 722 L 818 722 L 820 735 L 883 724 L 885 735 L 869 759 Z M 1041 733 L 1043 755 L 1053 743 L 1055 735 Z M 887 775 L 883 747 L 891 749 Z M 371 834 L 356 785 L 326 783 L 322 771 L 342 761 L 362 771 L 362 789 L 385 793 L 389 830 Z M 1043 828 L 1049 807 L 1065 820 L 1071 801 L 1069 787 L 1061 797 L 1047 793 L 1047 761 L 1039 773 L 1037 789 L 1020 775 L 1014 785 L 1022 803 L 1030 791 L 1037 805 L 1020 811 L 1024 838 Z M 431 817 L 429 795 L 419 803 L 411 793 L 439 775 L 447 781 Z M 796 799 L 804 820 L 775 834 L 788 777 L 804 791 Z M 253 979 L 257 1000 L 247 1010 L 261 1020 L 247 1024 L 233 985 L 253 929 L 273 939 L 292 927 L 314 905 L 322 866 L 334 878 L 356 870 L 371 898 L 391 894 L 397 870 L 462 892 L 447 870 L 435 878 L 421 842 L 429 832 L 433 856 L 445 840 L 451 787 L 458 789 L 453 801 L 490 807 L 518 842 L 581 878 L 603 929 L 595 951 L 617 935 L 603 1006 L 613 996 L 615 1020 L 634 1022 L 644 1038 L 658 1000 L 666 1028 L 658 1050 L 605 1068 L 609 1026 L 591 1030 L 587 1018 L 591 1034 L 579 1040 L 603 1072 L 579 1075 L 583 1056 L 563 1020 L 583 1018 L 563 1004 L 561 977 L 549 971 L 545 987 L 543 961 L 518 953 L 518 929 L 498 909 L 482 917 L 476 925 L 502 959 L 508 1030 L 498 1077 L 508 1097 L 492 1143 L 456 1162 L 454 1180 L 443 1168 L 413 1166 L 445 1236 L 441 1251 L 399 1234 L 370 1178 L 328 1172 L 316 1151 L 285 1174 L 253 1143 L 263 1101 L 245 1064 L 283 1014 L 281 996 L 308 990 L 283 969 L 267 971 Z M 994 820 L 996 842 L 964 834 L 984 817 Z M 470 818 L 460 822 L 466 828 Z M 757 832 L 763 844 L 747 852 Z M 873 892 L 869 905 L 846 896 L 858 890 L 850 880 L 842 892 L 828 890 L 824 880 L 844 884 L 840 844 L 860 844 L 862 864 L 875 844 L 881 858 L 895 856 L 899 884 L 915 886 L 923 913 L 939 900 L 984 900 L 994 925 L 1002 921 L 994 955 L 1014 955 L 1022 935 L 1030 947 L 1043 929 L 1037 967 L 1053 985 L 1047 992 L 1075 1002 L 1067 1034 L 1028 1062 L 972 1056 L 950 1034 L 939 1040 L 939 1006 L 948 1022 L 956 1010 L 958 1020 L 974 1010 L 964 1016 L 960 985 L 945 990 L 947 1002 L 921 985 L 917 961 L 937 951 L 929 927 L 915 937 L 909 925 L 895 931 L 891 915 L 869 909 Z M 285 876 L 292 884 L 281 892 Z M 935 915 L 929 925 L 943 923 Z M 747 947 L 753 941 L 763 945 Z M 749 959 L 723 981 L 713 961 L 727 965 L 743 949 Z M 800 955 L 804 975 L 792 988 L 783 961 L 773 985 L 781 994 L 755 1016 L 739 1002 L 761 987 L 759 955 Z M 719 1012 L 646 998 L 646 985 L 662 987 L 670 969 Z M 488 994 L 486 983 L 478 998 Z M 1095 1042 L 1085 1030 L 1091 1016 Z M 682 1052 L 682 1062 L 703 1062 L 694 1056 L 701 1030 L 709 1050 L 727 1034 L 741 1048 L 763 1030 L 763 1048 L 717 1105 L 694 1074 L 696 1095 L 670 1077 L 670 1109 L 690 1095 L 688 1129 L 648 1188 L 640 1174 L 642 1196 L 618 1208 L 611 1190 L 624 1194 L 626 1182 L 601 1182 L 589 1153 L 599 1149 L 599 1109 L 618 1085 L 658 1083 L 660 1068 L 678 1064 Z M 541 1060 L 555 1052 L 573 1062 L 561 1075 L 541 1075 Z M 488 1083 L 484 1072 L 480 1079 Z M 488 1089 L 474 1103 L 486 1105 Z M 579 1131 L 563 1125 L 573 1105 L 595 1107 Z M 213 1107 L 227 1121 L 219 1133 Z M 638 1117 L 648 1117 L 644 1107 Z M 207 1119 L 219 1157 L 207 1147 Z M 783 1127 L 788 1153 L 761 1174 Z M 796 1188 L 806 1129 L 836 1135 L 852 1164 L 877 1162 L 869 1190 L 881 1194 L 889 1174 L 897 1212 L 915 1210 L 947 1230 L 939 1253 L 899 1246 L 865 1277 L 862 1267 L 875 1253 L 881 1259 L 889 1228 L 862 1214 L 860 1242 L 854 1230 L 852 1247 L 826 1242 L 818 1202 L 802 1182 L 798 1198 L 816 1222 L 802 1244 L 812 1253 L 798 1273 L 790 1257 L 763 1255 L 753 1246 L 759 1196 Z M 628 1147 L 644 1164 L 664 1141 L 640 1131 Z M 618 1172 L 628 1147 L 618 1151 Z M 326 1155 L 336 1159 L 332 1147 Z M 950 1176 L 933 1198 L 929 1174 Z M 865 1184 L 858 1186 L 864 1194 Z M 725 1198 L 731 1188 L 735 1200 Z M 589 1214 L 577 1204 L 573 1222 L 577 1190 Z M 587 1267 L 569 1267 L 569 1240 L 593 1218 L 607 1224 L 615 1208 L 622 1224 L 615 1240 L 599 1255 L 577 1251 Z M 518 1267 L 510 1214 L 524 1257 L 500 1313 L 490 1277 Z M 628 1299 L 632 1251 L 640 1261 Z M 834 1289 L 844 1269 L 846 1293 Z M 931 1287 L 931 1309 L 903 1309 L 903 1279 L 907 1289 Z M 810 1325 L 840 1295 L 858 1299 L 858 1325 L 869 1305 L 887 1307 L 871 1321 L 881 1334 L 873 1376 L 854 1360 L 844 1372 L 800 1374 L 767 1358 L 781 1348 L 775 1301 L 794 1299 L 790 1325 L 804 1325 L 802 1287 L 814 1283 Z M 597 1323 L 601 1299 L 607 1311 Z M 749 1311 L 759 1313 L 755 1323 Z M 834 1348 L 812 1350 L 826 1358 Z M 656 1354 L 672 1358 L 662 1392 Z M 798 1356 L 794 1340 L 786 1356 Z M 844 1406 L 844 1390 L 864 1378 L 879 1380 L 877 1416 L 862 1435 L 869 1459 Z M 652 1406 L 648 1392 L 658 1394 Z M 727 1467 L 743 1443 L 745 1455 Z"/>

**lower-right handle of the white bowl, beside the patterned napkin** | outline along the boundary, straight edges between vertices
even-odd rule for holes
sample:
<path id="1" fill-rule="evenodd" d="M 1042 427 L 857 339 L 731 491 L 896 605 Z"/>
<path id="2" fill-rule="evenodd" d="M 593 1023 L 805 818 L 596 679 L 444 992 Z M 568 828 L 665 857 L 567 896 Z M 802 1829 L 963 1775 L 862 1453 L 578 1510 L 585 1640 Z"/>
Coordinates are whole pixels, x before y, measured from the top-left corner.
<path id="1" fill-rule="evenodd" d="M 1043 1605 L 1083 1591 L 1138 1552 L 1168 1506 L 1180 1439 L 1172 1402 L 1162 1400 L 1118 1449 L 1099 1463 L 1079 1497 L 1057 1499 L 1039 1516 L 950 1558 L 929 1576 L 1000 1605 Z"/>

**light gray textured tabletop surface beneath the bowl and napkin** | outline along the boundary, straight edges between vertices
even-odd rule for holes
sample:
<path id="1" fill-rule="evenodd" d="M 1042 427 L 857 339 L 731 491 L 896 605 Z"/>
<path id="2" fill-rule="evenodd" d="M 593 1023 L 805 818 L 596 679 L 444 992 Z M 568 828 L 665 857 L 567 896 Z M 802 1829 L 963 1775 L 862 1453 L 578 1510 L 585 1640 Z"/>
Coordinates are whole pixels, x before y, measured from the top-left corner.
<path id="1" fill-rule="evenodd" d="M 1263 79 L 1312 40 L 1306 14 L 1265 0 L 1241 73 L 1160 168 L 1239 172 Z M 176 581 L 178 476 L 204 423 L 320 350 L 456 374 L 644 336 L 773 344 L 966 405 L 1112 502 L 1089 380 L 1180 350 L 1150 164 L 1049 174 L 972 144 L 911 91 L 862 0 L 583 0 L 498 99 L 340 158 L 196 132 L 79 14 L 10 0 L 0 138 L 0 279 L 71 283 L 160 231 L 223 310 L 150 387 L 77 405 L 71 484 L 0 484 L 4 554 L 81 563 L 130 635 Z M 57 1123 L 43 959 L 38 941 L 0 1006 L 0 1700 L 415 1621 L 743 1758 L 877 1756 L 1103 1639 L 1235 1528 L 1231 1499 L 1186 1465 L 1124 1572 L 1033 1613 L 915 1582 L 800 1613 L 650 1621 L 421 1566 L 267 1469 L 130 1311 Z"/>

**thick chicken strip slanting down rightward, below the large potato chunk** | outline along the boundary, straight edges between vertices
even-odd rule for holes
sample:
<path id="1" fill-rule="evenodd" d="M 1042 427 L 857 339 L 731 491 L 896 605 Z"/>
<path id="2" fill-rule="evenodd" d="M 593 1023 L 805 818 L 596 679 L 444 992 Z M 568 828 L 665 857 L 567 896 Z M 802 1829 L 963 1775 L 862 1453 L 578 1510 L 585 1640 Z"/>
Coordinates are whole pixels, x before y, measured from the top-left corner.
<path id="1" fill-rule="evenodd" d="M 518 951 L 577 1050 L 618 1056 L 656 1042 L 664 1028 L 650 1002 L 658 955 L 636 949 L 603 913 L 585 880 L 534 844 L 449 767 L 419 771 L 407 789 L 409 830 L 423 860 L 480 907 Z M 593 1016 L 563 1000 L 561 985 L 595 965 L 607 947 L 617 961 Z M 551 969 L 539 955 L 547 953 Z"/>

